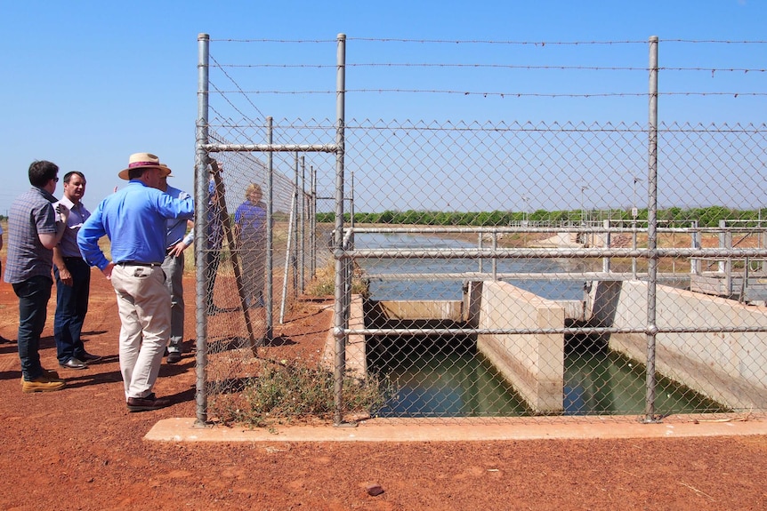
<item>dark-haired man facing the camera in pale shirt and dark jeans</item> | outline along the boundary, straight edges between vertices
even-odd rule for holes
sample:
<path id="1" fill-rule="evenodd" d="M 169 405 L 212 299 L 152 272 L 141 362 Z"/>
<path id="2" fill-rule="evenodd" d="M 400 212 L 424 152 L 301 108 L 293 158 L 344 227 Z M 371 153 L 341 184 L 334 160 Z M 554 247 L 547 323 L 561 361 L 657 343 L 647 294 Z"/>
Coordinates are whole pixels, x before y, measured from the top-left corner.
<path id="1" fill-rule="evenodd" d="M 87 369 L 89 362 L 101 359 L 85 351 L 83 331 L 91 291 L 91 267 L 80 255 L 77 231 L 91 212 L 83 204 L 85 174 L 64 174 L 64 196 L 56 204 L 69 208 L 69 219 L 61 242 L 53 248 L 53 275 L 56 277 L 56 315 L 53 318 L 53 338 L 56 356 L 64 369 Z"/>

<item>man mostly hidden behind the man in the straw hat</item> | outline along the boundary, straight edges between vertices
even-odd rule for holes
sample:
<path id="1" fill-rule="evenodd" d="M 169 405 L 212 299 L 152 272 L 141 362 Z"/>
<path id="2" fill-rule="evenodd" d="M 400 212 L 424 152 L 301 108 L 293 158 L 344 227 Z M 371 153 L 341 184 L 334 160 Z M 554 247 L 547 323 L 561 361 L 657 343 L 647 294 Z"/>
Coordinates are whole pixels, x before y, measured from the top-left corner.
<path id="1" fill-rule="evenodd" d="M 168 185 L 169 175 L 160 178 L 160 190 L 176 199 L 189 197 L 188 193 Z M 190 230 L 189 234 L 186 234 L 188 221 L 184 219 L 167 220 L 166 258 L 163 260 L 166 286 L 171 293 L 171 341 L 168 345 L 167 363 L 177 363 L 182 359 L 184 341 L 184 250 L 194 241 L 194 229 Z"/>

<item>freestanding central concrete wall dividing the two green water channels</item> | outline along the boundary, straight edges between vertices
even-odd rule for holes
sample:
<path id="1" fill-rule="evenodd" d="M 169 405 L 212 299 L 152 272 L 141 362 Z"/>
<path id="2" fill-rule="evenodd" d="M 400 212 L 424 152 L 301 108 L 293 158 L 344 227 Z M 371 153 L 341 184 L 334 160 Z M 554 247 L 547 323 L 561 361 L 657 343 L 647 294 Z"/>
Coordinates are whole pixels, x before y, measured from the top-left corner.
<path id="1" fill-rule="evenodd" d="M 510 283 L 472 283 L 481 291 L 472 304 L 472 323 L 484 329 L 562 328 L 565 308 Z M 471 310 L 471 309 L 470 309 Z M 480 334 L 477 350 L 539 413 L 563 410 L 564 336 L 562 334 Z"/>

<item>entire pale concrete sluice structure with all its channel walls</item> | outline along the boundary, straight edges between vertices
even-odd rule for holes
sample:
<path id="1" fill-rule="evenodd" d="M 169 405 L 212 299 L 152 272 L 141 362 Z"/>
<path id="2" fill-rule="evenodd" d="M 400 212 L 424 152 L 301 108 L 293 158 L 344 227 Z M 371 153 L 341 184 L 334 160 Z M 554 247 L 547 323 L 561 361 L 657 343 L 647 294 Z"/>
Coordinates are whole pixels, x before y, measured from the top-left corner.
<path id="1" fill-rule="evenodd" d="M 725 409 L 767 410 L 767 331 L 722 331 L 767 327 L 767 307 L 662 285 L 656 294 L 656 324 L 661 330 L 655 338 L 658 374 Z M 565 335 L 529 331 L 574 324 L 634 330 L 599 339 L 610 351 L 645 364 L 647 296 L 647 283 L 640 281 L 595 283 L 583 301 L 575 302 L 544 299 L 505 282 L 474 282 L 466 287 L 462 301 L 376 301 L 355 296 L 350 328 L 418 329 L 423 335 L 432 329 L 456 328 L 523 331 L 464 333 L 450 341 L 482 355 L 529 411 L 558 414 L 565 409 Z M 413 338 L 404 335 L 400 342 Z M 375 336 L 348 339 L 347 370 L 361 377 L 367 375 L 368 351 L 375 349 L 371 339 Z"/>

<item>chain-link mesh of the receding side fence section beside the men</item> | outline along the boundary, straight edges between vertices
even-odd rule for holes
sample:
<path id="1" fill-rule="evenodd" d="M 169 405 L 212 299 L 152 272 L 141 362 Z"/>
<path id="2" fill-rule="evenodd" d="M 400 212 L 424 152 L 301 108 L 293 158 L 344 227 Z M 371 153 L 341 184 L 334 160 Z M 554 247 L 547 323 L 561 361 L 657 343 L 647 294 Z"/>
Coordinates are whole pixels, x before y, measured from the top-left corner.
<path id="1" fill-rule="evenodd" d="M 264 136 L 213 127 L 219 131 L 210 140 L 222 145 Z M 209 158 L 203 314 L 205 392 L 214 417 L 231 418 L 242 406 L 244 382 L 270 358 L 274 325 L 282 323 L 317 264 L 308 220 L 313 203 L 305 190 L 318 163 L 322 156 L 295 153 L 222 151 Z M 327 259 L 325 252 L 320 260 Z"/>

